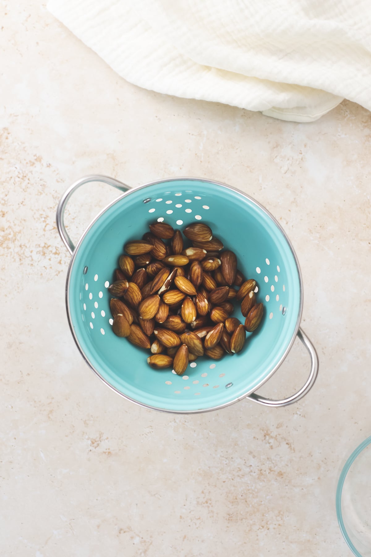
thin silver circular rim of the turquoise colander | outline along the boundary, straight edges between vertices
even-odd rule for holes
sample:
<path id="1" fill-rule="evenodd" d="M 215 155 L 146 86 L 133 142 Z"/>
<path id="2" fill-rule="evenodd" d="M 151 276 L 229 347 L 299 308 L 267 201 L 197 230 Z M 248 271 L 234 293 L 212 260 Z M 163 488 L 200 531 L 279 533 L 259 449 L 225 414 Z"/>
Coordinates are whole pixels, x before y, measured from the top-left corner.
<path id="1" fill-rule="evenodd" d="M 288 245 L 290 247 L 291 252 L 293 253 L 296 268 L 298 270 L 298 275 L 299 275 L 300 303 L 299 303 L 298 319 L 296 320 L 296 325 L 295 325 L 294 333 L 291 336 L 291 340 L 290 340 L 288 346 L 286 347 L 286 350 L 285 350 L 284 354 L 282 355 L 281 359 L 279 360 L 278 364 L 275 365 L 275 367 L 269 372 L 269 374 L 263 380 L 261 380 L 261 382 L 258 385 L 256 385 L 256 387 L 254 387 L 254 389 L 248 390 L 248 391 L 246 391 L 246 393 L 244 393 L 240 397 L 237 397 L 233 400 L 230 400 L 229 402 L 226 402 L 224 404 L 219 404 L 219 405 L 211 407 L 211 408 L 205 408 L 205 409 L 199 409 L 199 410 L 169 410 L 167 408 L 157 408 L 156 406 L 151 406 L 150 404 L 145 404 L 143 402 L 140 402 L 139 400 L 135 400 L 131 397 L 128 397 L 126 394 L 121 393 L 118 389 L 116 389 L 110 383 L 108 383 L 107 380 L 102 377 L 102 375 L 98 372 L 98 370 L 95 369 L 95 367 L 87 359 L 87 356 L 86 356 L 85 352 L 83 351 L 83 349 L 82 349 L 82 347 L 81 347 L 81 345 L 80 345 L 80 343 L 77 339 L 77 336 L 75 334 L 75 329 L 73 328 L 73 325 L 72 325 L 70 303 L 69 303 L 70 275 L 71 275 L 71 269 L 72 269 L 72 266 L 73 266 L 73 262 L 75 261 L 76 254 L 78 252 L 78 249 L 81 246 L 81 243 L 82 243 L 83 239 L 85 238 L 86 234 L 88 233 L 90 228 L 93 226 L 93 224 L 95 224 L 95 222 L 102 216 L 102 214 L 105 213 L 108 209 L 110 209 L 110 207 L 112 207 L 113 205 L 115 205 L 116 203 L 121 201 L 122 198 L 129 196 L 132 192 L 136 192 L 137 190 L 140 190 L 140 189 L 150 188 L 152 185 L 161 184 L 163 182 L 177 182 L 178 180 L 189 180 L 191 182 L 206 182 L 206 183 L 209 183 L 209 184 L 220 185 L 223 188 L 229 189 L 229 190 L 231 190 L 233 192 L 236 192 L 239 195 L 245 197 L 251 203 L 254 203 L 257 207 L 259 207 L 259 209 L 261 209 L 261 211 L 263 211 L 268 217 L 270 217 L 271 220 L 280 229 L 281 233 L 283 234 L 283 236 L 286 239 L 286 242 L 288 242 Z M 161 412 L 169 412 L 169 413 L 173 413 L 173 414 L 200 414 L 200 413 L 203 413 L 203 412 L 211 412 L 211 411 L 214 411 L 214 410 L 219 410 L 220 408 L 225 408 L 227 406 L 230 406 L 231 404 L 234 404 L 234 403 L 238 402 L 239 400 L 243 400 L 244 398 L 248 397 L 249 394 L 254 393 L 256 390 L 258 390 L 261 387 L 261 385 L 264 385 L 264 383 L 266 383 L 266 381 L 268 381 L 268 379 L 270 377 L 272 377 L 272 375 L 278 370 L 278 368 L 280 367 L 280 365 L 283 363 L 286 356 L 288 355 L 288 353 L 291 349 L 291 346 L 294 344 L 294 340 L 296 338 L 296 335 L 298 334 L 299 325 L 300 325 L 300 321 L 301 321 L 301 314 L 303 312 L 303 280 L 302 280 L 302 277 L 301 277 L 301 270 L 300 270 L 298 257 L 296 257 L 295 250 L 294 250 L 293 245 L 291 244 L 286 232 L 281 227 L 280 223 L 275 219 L 275 217 L 263 205 L 261 205 L 259 202 L 255 201 L 255 199 L 248 196 L 246 193 L 241 192 L 237 188 L 233 188 L 230 185 L 223 184 L 222 182 L 216 182 L 215 180 L 207 180 L 205 178 L 181 178 L 181 177 L 179 177 L 179 178 L 164 178 L 162 180 L 156 180 L 156 182 L 150 182 L 148 184 L 144 184 L 144 185 L 137 186 L 135 188 L 131 188 L 127 192 L 123 193 L 121 196 L 114 199 L 105 208 L 103 208 L 100 213 L 97 214 L 97 216 L 91 221 L 91 223 L 88 225 L 88 227 L 82 233 L 80 239 L 78 240 L 78 242 L 76 244 L 75 250 L 72 253 L 70 265 L 68 266 L 67 278 L 66 278 L 66 309 L 67 309 L 68 325 L 70 326 L 72 336 L 75 339 L 75 343 L 77 345 L 78 350 L 80 351 L 80 354 L 82 355 L 83 359 L 86 361 L 88 366 L 102 380 L 102 382 L 107 385 L 107 387 L 112 389 L 115 393 L 119 394 L 121 397 L 125 398 L 126 400 L 130 400 L 130 402 L 133 402 L 134 404 L 137 404 L 138 406 L 141 406 L 141 407 L 144 407 L 144 408 L 150 408 L 152 410 L 158 410 L 158 411 L 161 411 Z"/>

